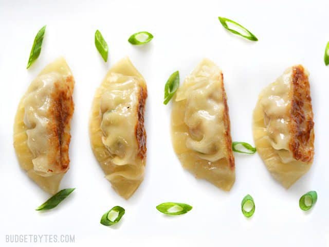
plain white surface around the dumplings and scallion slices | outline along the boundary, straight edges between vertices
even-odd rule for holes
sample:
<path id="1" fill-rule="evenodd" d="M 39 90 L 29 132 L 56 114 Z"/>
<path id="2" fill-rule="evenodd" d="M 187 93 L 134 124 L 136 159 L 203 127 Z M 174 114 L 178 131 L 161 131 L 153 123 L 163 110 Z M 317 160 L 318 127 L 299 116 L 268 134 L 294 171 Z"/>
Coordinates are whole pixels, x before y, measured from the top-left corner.
<path id="1" fill-rule="evenodd" d="M 0 245 L 7 245 L 6 234 L 75 234 L 76 243 L 68 246 L 328 246 L 329 68 L 323 62 L 328 9 L 327 1 L 309 0 L 0 0 Z M 241 23 L 259 41 L 227 32 L 218 16 Z M 43 25 L 47 29 L 41 55 L 27 70 L 33 39 Z M 96 29 L 109 46 L 107 63 L 95 48 Z M 127 42 L 143 30 L 153 33 L 151 43 Z M 76 79 L 70 169 L 60 188 L 77 189 L 58 208 L 39 213 L 34 208 L 49 195 L 17 163 L 13 120 L 29 83 L 59 56 L 66 58 Z M 88 137 L 95 90 L 109 67 L 124 56 L 144 76 L 149 91 L 145 179 L 128 201 L 104 178 Z M 272 179 L 257 153 L 235 154 L 236 181 L 230 192 L 196 180 L 180 166 L 171 145 L 171 104 L 162 104 L 163 89 L 172 72 L 179 70 L 182 82 L 204 57 L 223 69 L 232 139 L 252 144 L 252 111 L 263 87 L 288 66 L 301 63 L 309 70 L 315 158 L 290 189 Z M 309 190 L 318 192 L 318 202 L 304 213 L 298 201 Z M 250 219 L 241 213 L 247 193 L 256 204 Z M 166 201 L 189 203 L 193 209 L 167 217 L 155 208 Z M 102 214 L 115 205 L 126 209 L 121 222 L 101 225 Z"/>

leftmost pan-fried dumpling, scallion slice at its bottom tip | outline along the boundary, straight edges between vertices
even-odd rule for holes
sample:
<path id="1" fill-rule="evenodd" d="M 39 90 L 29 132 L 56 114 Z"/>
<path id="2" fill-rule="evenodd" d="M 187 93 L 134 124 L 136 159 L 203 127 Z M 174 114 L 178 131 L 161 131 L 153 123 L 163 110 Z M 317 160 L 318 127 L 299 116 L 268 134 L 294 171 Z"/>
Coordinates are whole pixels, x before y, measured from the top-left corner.
<path id="1" fill-rule="evenodd" d="M 64 58 L 48 64 L 21 99 L 14 148 L 21 167 L 45 191 L 58 191 L 69 168 L 74 78 Z"/>

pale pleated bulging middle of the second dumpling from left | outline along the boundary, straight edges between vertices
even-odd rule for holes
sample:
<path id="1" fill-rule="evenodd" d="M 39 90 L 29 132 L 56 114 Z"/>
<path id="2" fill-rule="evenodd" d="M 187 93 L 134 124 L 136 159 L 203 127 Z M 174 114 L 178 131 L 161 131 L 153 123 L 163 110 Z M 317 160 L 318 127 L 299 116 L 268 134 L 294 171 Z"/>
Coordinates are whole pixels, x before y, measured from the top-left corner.
<path id="1" fill-rule="evenodd" d="M 120 81 L 117 81 L 120 77 Z M 116 165 L 132 164 L 138 151 L 135 137 L 138 81 L 133 77 L 113 74 L 108 77 L 106 92 L 101 96 L 102 142 L 113 155 Z"/>

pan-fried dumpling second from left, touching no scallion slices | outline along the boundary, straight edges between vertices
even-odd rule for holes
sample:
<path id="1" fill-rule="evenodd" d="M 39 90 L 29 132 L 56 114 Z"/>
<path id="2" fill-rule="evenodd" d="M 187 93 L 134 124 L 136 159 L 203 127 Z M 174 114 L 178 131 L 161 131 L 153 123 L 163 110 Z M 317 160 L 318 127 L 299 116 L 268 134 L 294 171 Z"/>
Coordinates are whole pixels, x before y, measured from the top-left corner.
<path id="1" fill-rule="evenodd" d="M 117 62 L 97 89 L 90 115 L 90 142 L 115 191 L 130 198 L 144 178 L 146 132 L 144 78 L 129 58 Z"/>

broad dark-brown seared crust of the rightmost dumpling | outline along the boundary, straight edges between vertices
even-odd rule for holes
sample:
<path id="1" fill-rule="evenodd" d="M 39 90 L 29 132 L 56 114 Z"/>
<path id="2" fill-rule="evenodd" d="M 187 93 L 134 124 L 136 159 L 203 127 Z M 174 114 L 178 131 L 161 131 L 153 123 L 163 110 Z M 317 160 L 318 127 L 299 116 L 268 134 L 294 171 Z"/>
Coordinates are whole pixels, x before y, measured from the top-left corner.
<path id="1" fill-rule="evenodd" d="M 289 148 L 297 161 L 308 163 L 314 156 L 314 122 L 308 76 L 303 66 L 293 67 L 292 84 Z"/>

